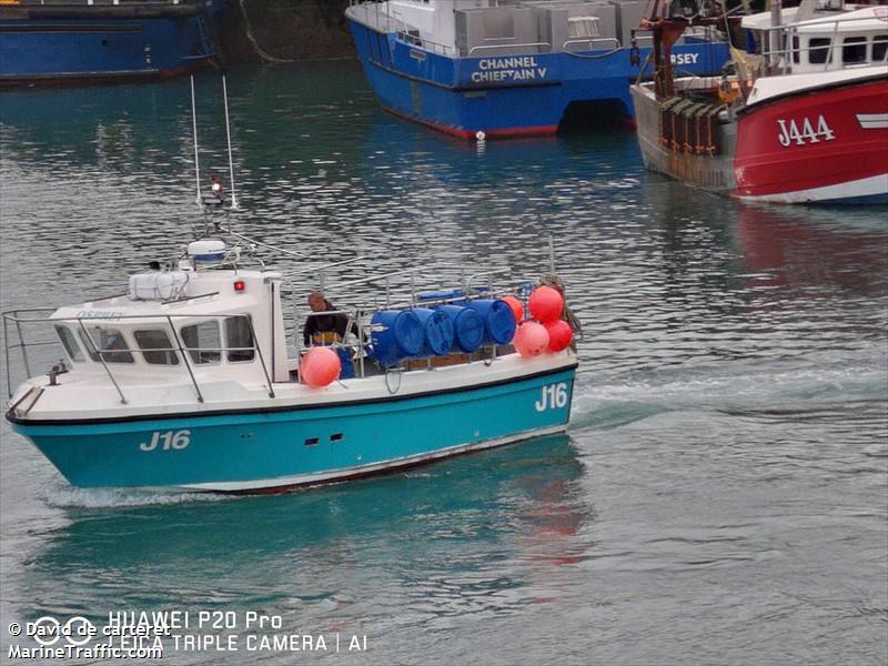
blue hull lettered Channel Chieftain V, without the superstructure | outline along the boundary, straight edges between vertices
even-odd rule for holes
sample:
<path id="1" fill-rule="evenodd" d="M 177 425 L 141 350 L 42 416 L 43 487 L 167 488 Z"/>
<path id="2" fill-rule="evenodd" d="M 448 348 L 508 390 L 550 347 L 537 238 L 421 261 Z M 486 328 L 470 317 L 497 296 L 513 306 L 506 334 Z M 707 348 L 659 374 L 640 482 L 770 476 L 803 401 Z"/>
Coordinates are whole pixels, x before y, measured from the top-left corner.
<path id="1" fill-rule="evenodd" d="M 454 58 L 412 47 L 346 12 L 371 88 L 387 111 L 465 139 L 553 134 L 574 103 L 603 102 L 633 117 L 629 84 L 638 78 L 628 49 L 584 54 L 528 53 Z M 640 62 L 649 49 L 640 50 Z M 697 42 L 675 47 L 683 69 L 719 71 L 727 47 Z M 593 111 L 589 111 L 591 113 Z"/>

